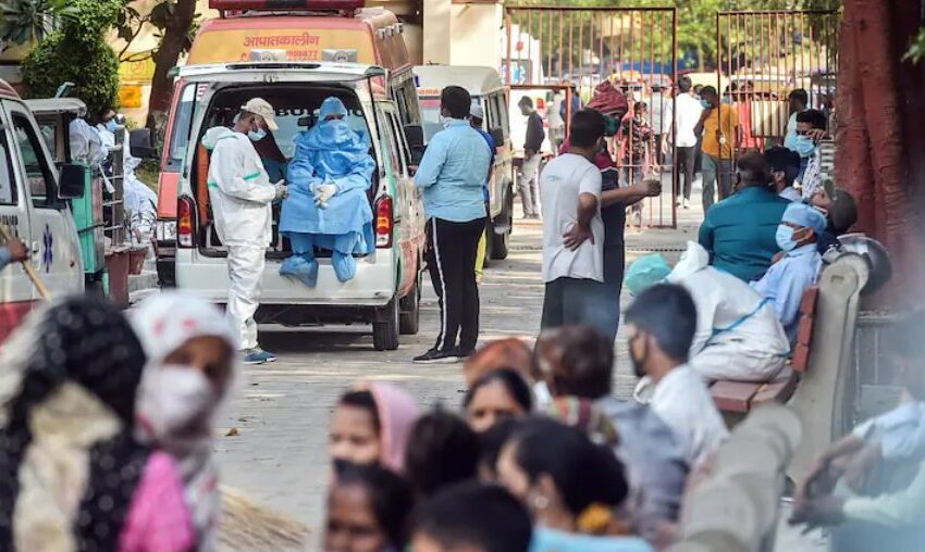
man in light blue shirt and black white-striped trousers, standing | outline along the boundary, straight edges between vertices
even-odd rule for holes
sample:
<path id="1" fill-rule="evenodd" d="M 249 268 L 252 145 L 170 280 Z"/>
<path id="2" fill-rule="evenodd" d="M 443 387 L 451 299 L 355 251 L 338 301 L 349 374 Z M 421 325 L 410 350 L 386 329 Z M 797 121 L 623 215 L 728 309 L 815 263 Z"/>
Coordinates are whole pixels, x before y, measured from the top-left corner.
<path id="1" fill-rule="evenodd" d="M 479 338 L 476 252 L 485 230 L 482 187 L 491 151 L 466 121 L 471 102 L 465 88 L 443 89 L 440 103 L 446 128 L 431 138 L 415 177 L 428 217 L 428 268 L 440 298 L 436 343 L 415 362 L 457 362 L 474 351 Z"/>

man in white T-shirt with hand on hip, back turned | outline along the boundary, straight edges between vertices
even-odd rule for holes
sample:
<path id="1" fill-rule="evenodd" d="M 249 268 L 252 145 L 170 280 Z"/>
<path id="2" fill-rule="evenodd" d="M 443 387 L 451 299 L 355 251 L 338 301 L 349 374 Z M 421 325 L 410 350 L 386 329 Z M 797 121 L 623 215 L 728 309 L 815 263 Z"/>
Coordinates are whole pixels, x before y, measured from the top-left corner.
<path id="1" fill-rule="evenodd" d="M 589 324 L 608 335 L 604 285 L 601 171 L 591 162 L 604 139 L 605 121 L 594 110 L 571 120 L 569 148 L 540 177 L 543 205 L 542 328 Z"/>

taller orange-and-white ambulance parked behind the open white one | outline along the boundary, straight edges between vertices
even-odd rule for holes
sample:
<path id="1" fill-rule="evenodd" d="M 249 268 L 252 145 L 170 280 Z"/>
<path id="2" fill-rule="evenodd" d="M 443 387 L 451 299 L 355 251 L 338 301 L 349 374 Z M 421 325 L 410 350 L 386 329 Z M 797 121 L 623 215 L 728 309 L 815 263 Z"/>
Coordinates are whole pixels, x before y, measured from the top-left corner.
<path id="1" fill-rule="evenodd" d="M 285 61 L 360 63 L 386 71 L 384 81 L 398 123 L 416 136 L 421 114 L 412 65 L 394 13 L 363 8 L 363 0 L 210 0 L 220 17 L 199 28 L 188 65 Z M 156 227 L 160 284 L 175 284 L 176 197 L 184 168 L 188 170 L 190 121 L 201 97 L 197 87 L 177 73 L 164 131 L 158 186 Z M 412 140 L 417 142 L 418 140 Z M 422 150 L 423 145 L 412 145 Z"/>

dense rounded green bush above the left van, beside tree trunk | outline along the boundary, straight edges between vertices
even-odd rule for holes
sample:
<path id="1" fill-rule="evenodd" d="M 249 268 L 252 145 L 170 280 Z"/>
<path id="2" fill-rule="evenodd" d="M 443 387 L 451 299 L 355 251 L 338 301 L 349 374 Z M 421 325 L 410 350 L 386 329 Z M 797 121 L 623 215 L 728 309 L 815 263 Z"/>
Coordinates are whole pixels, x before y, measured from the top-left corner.
<path id="1" fill-rule="evenodd" d="M 103 34 L 115 25 L 121 0 L 67 0 L 76 15 L 63 20 L 23 61 L 26 96 L 47 98 L 65 81 L 92 116 L 114 106 L 119 96 L 119 58 Z"/>

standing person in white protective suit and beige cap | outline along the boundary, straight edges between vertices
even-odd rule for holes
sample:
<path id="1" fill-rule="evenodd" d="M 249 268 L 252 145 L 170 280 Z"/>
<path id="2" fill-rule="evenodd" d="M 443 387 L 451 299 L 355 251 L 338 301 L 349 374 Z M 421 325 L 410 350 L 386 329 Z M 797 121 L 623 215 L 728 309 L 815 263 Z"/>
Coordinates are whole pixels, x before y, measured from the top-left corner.
<path id="1" fill-rule="evenodd" d="M 257 343 L 254 315 L 260 305 L 260 278 L 267 247 L 272 239 L 271 204 L 286 197 L 283 180 L 270 177 L 254 142 L 276 130 L 272 105 L 252 98 L 240 109 L 234 127 L 210 128 L 202 146 L 212 151 L 209 162 L 209 201 L 215 231 L 229 251 L 227 315 L 239 334 L 246 364 L 263 364 L 276 357 Z"/>

